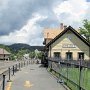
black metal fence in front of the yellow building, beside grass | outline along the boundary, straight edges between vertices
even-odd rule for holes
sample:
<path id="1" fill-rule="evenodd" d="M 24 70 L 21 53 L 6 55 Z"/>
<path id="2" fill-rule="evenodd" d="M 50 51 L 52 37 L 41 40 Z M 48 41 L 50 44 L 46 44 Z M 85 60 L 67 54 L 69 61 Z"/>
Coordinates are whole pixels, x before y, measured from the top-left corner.
<path id="1" fill-rule="evenodd" d="M 71 90 L 90 90 L 90 60 L 48 58 L 48 68 Z"/>

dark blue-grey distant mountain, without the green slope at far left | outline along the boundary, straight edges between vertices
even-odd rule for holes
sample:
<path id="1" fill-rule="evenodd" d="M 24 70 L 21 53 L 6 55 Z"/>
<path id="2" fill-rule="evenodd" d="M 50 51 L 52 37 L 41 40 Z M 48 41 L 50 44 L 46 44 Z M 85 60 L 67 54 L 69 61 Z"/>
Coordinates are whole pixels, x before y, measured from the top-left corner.
<path id="1" fill-rule="evenodd" d="M 21 49 L 27 49 L 29 51 L 34 51 L 37 49 L 39 51 L 42 51 L 44 48 L 44 46 L 30 46 L 28 44 L 23 44 L 23 43 L 15 43 L 12 45 L 8 45 L 8 47 L 14 53 L 17 53 Z"/>

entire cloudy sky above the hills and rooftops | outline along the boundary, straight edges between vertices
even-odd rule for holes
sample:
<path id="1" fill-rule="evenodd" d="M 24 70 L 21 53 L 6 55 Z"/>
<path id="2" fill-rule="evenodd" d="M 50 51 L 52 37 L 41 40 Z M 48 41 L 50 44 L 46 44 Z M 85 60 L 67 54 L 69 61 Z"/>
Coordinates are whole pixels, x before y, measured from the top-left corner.
<path id="1" fill-rule="evenodd" d="M 0 44 L 42 45 L 45 27 L 90 20 L 90 0 L 0 0 Z"/>

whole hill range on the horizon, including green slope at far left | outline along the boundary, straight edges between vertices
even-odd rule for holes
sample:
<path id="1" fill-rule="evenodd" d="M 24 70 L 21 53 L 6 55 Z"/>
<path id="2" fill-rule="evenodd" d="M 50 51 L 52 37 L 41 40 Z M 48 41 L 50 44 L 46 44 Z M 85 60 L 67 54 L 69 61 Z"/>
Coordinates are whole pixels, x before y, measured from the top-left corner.
<path id="1" fill-rule="evenodd" d="M 30 45 L 24 44 L 24 43 L 15 43 L 12 45 L 0 44 L 0 48 L 4 48 L 11 53 L 17 53 L 21 49 L 23 49 L 23 50 L 27 49 L 28 51 L 34 51 L 37 49 L 39 51 L 42 51 L 44 49 L 44 46 L 30 46 Z"/>

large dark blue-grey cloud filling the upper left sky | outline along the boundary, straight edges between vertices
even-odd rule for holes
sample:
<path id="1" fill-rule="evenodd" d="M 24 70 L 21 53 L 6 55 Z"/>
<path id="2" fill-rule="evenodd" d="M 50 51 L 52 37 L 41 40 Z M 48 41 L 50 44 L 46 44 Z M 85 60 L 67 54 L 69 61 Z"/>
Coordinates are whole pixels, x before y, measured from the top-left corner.
<path id="1" fill-rule="evenodd" d="M 19 30 L 32 17 L 32 13 L 38 12 L 48 15 L 47 11 L 51 12 L 58 0 L 7 0 L 7 2 L 4 10 L 0 10 L 0 35 Z M 43 24 L 48 22 L 51 24 L 54 21 L 52 18 L 49 21 L 48 18 Z"/>

